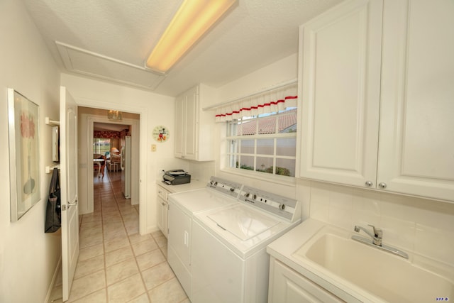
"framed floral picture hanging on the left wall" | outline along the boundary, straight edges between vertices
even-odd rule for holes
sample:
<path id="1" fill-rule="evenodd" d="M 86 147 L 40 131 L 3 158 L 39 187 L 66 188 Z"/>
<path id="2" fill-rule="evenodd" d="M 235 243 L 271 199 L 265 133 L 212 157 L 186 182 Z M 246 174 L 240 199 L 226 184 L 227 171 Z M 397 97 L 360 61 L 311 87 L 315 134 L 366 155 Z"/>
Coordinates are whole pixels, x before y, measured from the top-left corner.
<path id="1" fill-rule="evenodd" d="M 41 199 L 39 106 L 8 89 L 11 222 Z"/>

